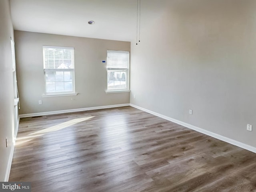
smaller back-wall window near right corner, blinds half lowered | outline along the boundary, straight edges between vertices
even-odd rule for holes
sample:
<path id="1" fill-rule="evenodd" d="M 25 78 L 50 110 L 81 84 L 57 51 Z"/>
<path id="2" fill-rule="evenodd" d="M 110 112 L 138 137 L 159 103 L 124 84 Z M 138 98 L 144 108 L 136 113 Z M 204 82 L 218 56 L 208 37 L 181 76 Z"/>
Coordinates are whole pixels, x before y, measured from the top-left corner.
<path id="1" fill-rule="evenodd" d="M 128 90 L 128 51 L 107 51 L 108 91 Z"/>

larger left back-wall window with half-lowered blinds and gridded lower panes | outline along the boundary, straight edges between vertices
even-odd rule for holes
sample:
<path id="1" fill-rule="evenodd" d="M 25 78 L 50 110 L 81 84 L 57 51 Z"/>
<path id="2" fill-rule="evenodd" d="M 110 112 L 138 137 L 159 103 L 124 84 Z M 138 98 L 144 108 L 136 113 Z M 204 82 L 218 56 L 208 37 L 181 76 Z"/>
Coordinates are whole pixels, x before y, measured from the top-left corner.
<path id="1" fill-rule="evenodd" d="M 43 46 L 45 94 L 70 94 L 74 85 L 74 48 Z"/>

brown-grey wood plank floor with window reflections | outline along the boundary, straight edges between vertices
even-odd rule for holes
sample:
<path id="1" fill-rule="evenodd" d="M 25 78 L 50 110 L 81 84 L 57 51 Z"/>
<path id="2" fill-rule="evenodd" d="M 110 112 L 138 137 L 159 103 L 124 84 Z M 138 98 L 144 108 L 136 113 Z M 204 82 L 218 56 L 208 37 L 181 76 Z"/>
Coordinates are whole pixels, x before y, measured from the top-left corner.
<path id="1" fill-rule="evenodd" d="M 33 192 L 256 191 L 256 154 L 132 107 L 22 118 L 9 181 Z"/>

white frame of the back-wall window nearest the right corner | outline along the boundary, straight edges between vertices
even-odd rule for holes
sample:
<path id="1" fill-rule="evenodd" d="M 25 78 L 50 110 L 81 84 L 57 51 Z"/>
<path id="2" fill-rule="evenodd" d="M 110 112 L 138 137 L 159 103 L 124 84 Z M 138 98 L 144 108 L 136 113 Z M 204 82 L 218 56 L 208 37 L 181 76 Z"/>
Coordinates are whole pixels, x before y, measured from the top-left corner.
<path id="1" fill-rule="evenodd" d="M 108 53 L 111 52 L 116 52 L 116 53 L 125 53 L 128 54 L 128 62 L 127 62 L 127 68 L 108 68 Z M 113 92 L 130 92 L 130 52 L 129 51 L 123 51 L 123 50 L 107 50 L 107 65 L 106 65 L 106 70 L 107 70 L 107 89 L 106 93 L 113 93 Z M 108 89 L 108 72 L 125 72 L 126 73 L 126 79 L 125 79 L 125 84 L 126 88 L 113 88 L 113 89 Z"/>

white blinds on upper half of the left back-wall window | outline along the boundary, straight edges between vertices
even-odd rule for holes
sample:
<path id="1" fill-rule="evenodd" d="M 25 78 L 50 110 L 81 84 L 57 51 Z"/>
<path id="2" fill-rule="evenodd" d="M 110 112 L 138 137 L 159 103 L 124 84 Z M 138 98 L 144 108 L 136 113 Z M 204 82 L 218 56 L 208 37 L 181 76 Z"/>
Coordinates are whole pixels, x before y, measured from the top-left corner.
<path id="1" fill-rule="evenodd" d="M 74 69 L 74 48 L 43 46 L 44 69 Z"/>

